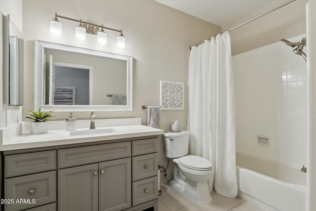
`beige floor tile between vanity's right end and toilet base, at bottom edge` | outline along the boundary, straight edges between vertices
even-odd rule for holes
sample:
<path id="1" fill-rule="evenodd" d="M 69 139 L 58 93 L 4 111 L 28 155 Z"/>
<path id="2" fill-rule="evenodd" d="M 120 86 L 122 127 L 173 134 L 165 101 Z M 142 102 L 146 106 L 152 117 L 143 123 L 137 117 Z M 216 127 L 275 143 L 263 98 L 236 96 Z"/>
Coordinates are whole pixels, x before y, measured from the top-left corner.
<path id="1" fill-rule="evenodd" d="M 192 204 L 189 200 L 187 200 L 178 192 L 161 197 L 159 198 L 159 200 L 170 211 L 177 211 L 181 208 L 187 207 L 188 205 Z"/>

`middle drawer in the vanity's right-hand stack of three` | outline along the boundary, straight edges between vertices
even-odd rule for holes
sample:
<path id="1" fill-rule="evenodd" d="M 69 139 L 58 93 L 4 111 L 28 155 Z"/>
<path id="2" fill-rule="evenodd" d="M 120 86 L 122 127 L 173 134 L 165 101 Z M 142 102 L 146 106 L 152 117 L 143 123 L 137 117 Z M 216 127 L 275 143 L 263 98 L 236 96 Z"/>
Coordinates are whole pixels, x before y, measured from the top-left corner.
<path id="1" fill-rule="evenodd" d="M 158 174 L 158 154 L 133 157 L 133 181 Z"/>

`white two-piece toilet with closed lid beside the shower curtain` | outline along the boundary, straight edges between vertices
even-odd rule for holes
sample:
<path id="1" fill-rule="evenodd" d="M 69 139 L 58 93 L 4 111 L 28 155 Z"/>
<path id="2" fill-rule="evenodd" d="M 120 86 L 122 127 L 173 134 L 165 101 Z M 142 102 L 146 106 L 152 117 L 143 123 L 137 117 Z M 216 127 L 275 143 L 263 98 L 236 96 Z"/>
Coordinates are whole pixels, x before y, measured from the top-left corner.
<path id="1" fill-rule="evenodd" d="M 188 155 L 189 137 L 187 130 L 163 134 L 166 157 L 173 158 L 175 163 L 170 184 L 194 204 L 206 205 L 212 201 L 209 186 L 212 186 L 214 169 L 210 161 Z"/>

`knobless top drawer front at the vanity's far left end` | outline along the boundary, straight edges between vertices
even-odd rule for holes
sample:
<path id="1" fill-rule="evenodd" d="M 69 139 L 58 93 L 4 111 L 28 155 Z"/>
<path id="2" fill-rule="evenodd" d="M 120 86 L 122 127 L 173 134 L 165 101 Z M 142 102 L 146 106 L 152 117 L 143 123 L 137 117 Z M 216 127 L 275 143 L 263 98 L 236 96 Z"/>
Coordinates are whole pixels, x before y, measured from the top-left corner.
<path id="1" fill-rule="evenodd" d="M 56 169 L 56 151 L 4 156 L 5 178 Z"/>

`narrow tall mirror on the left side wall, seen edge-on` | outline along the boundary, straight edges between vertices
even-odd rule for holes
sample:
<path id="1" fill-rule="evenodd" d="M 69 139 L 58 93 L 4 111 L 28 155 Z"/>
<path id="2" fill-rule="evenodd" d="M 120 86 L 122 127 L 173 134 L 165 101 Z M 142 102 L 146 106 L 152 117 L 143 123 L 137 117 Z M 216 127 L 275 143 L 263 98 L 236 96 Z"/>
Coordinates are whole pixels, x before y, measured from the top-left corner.
<path id="1" fill-rule="evenodd" d="M 8 67 L 9 67 L 9 106 L 23 105 L 24 39 L 22 33 L 7 15 Z"/>

